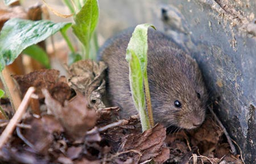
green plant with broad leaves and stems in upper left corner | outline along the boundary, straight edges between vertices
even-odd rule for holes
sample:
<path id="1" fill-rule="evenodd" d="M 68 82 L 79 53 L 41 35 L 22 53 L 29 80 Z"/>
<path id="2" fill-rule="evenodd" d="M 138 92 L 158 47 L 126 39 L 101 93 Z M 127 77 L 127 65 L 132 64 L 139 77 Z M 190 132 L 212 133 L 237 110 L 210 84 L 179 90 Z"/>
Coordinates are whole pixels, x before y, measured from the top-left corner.
<path id="1" fill-rule="evenodd" d="M 15 2 L 4 1 L 6 5 L 10 5 Z M 75 52 L 71 41 L 66 34 L 68 28 L 72 26 L 73 32 L 76 37 L 79 38 L 86 53 L 82 55 L 85 58 L 95 58 L 95 55 L 89 55 L 90 52 L 90 38 L 94 34 L 94 29 L 96 28 L 98 21 L 98 2 L 97 0 L 87 0 L 87 1 L 76 1 L 77 6 L 80 10 L 77 10 L 73 15 L 75 23 L 53 23 L 49 20 L 24 20 L 24 19 L 10 19 L 8 20 L 0 33 L 0 71 L 2 72 L 5 66 L 14 62 L 14 59 L 18 57 L 20 53 L 26 53 L 32 58 L 37 59 L 39 62 L 43 63 L 44 66 L 49 68 L 49 59 L 43 49 L 40 49 L 35 44 L 38 42 L 46 40 L 52 34 L 60 31 L 63 34 L 64 39 L 67 41 L 69 48 L 73 54 L 72 61 L 81 59 L 79 54 Z M 79 2 L 79 3 L 78 3 Z M 82 5 L 82 3 L 84 5 Z M 75 11 L 75 10 L 74 10 Z M 36 53 L 35 53 L 36 52 Z M 2 74 L 0 74 L 1 80 L 5 87 L 6 93 L 10 97 L 9 89 L 5 83 L 5 79 Z M 13 102 L 11 101 L 14 108 Z"/>

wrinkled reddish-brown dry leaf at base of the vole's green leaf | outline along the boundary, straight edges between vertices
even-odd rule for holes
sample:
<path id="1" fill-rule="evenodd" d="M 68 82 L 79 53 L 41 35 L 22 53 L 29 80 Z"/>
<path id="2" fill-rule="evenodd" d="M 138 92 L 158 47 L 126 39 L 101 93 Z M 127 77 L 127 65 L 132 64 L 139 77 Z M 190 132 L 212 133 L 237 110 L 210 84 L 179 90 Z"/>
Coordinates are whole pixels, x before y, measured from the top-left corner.
<path id="1" fill-rule="evenodd" d="M 140 158 L 140 162 L 146 161 L 147 159 L 154 158 L 159 156 L 162 151 L 164 139 L 166 139 L 166 128 L 164 128 L 161 124 L 157 124 L 155 127 L 150 130 L 144 131 L 142 134 L 131 134 L 127 136 L 125 145 L 123 147 L 124 150 L 137 150 L 142 153 Z M 163 150 L 166 151 L 166 150 Z M 164 152 L 164 157 L 169 157 L 167 155 L 167 151 Z M 138 154 L 135 154 L 138 156 Z M 166 161 L 166 159 L 161 159 L 162 161 Z"/>

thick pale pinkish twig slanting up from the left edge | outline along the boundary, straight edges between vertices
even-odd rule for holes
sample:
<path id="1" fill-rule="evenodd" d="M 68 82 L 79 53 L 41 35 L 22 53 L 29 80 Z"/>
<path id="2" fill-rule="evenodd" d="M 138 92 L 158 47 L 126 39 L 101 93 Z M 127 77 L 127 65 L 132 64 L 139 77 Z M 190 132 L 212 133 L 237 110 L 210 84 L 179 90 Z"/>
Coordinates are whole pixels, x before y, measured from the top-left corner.
<path id="1" fill-rule="evenodd" d="M 6 141 L 9 139 L 9 137 L 11 136 L 11 133 L 13 133 L 13 131 L 14 131 L 16 124 L 22 118 L 23 113 L 27 109 L 27 105 L 29 103 L 30 96 L 33 92 L 35 92 L 34 87 L 28 88 L 27 93 L 25 94 L 22 102 L 20 103 L 20 105 L 18 107 L 18 110 L 14 114 L 13 118 L 11 118 L 11 120 L 10 120 L 9 124 L 7 125 L 7 127 L 5 128 L 5 130 L 2 132 L 2 135 L 0 136 L 0 149 L 6 143 Z"/>

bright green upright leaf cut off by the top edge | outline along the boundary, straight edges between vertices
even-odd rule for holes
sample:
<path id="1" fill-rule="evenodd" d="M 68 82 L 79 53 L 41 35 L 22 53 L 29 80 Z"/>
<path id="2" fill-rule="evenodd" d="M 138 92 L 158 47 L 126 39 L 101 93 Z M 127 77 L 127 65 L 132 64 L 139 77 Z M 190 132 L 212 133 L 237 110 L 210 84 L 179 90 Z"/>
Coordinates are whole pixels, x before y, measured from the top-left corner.
<path id="1" fill-rule="evenodd" d="M 74 20 L 75 24 L 72 25 L 73 32 L 86 50 L 84 58 L 89 58 L 90 38 L 98 23 L 97 0 L 87 0 L 79 13 L 74 16 Z"/>

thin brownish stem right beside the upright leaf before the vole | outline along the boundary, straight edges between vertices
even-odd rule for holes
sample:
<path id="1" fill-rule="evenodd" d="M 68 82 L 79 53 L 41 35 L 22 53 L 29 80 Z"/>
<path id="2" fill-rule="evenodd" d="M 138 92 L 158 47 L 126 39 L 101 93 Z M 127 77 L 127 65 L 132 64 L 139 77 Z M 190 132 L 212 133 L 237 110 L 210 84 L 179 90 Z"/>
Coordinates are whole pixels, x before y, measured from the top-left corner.
<path id="1" fill-rule="evenodd" d="M 152 106 L 151 106 L 151 98 L 150 98 L 150 90 L 149 90 L 149 85 L 148 85 L 148 80 L 147 80 L 147 71 L 145 72 L 146 75 L 144 75 L 144 89 L 145 89 L 145 94 L 146 94 L 146 102 L 147 102 L 147 114 L 148 114 L 148 119 L 150 122 L 151 128 L 155 126 L 154 123 L 154 118 L 153 118 L 153 111 L 152 111 Z"/>

